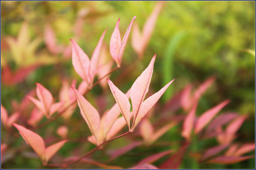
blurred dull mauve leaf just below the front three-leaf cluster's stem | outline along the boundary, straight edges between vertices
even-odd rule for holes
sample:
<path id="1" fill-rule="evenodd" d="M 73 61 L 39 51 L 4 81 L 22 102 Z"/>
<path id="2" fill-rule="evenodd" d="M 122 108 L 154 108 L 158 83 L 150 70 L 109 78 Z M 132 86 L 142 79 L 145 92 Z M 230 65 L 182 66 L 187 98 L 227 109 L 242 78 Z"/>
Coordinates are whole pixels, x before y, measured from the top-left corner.
<path id="1" fill-rule="evenodd" d="M 135 148 L 137 146 L 140 146 L 140 145 L 142 145 L 142 142 L 133 142 L 133 143 L 131 143 L 129 145 L 126 145 L 124 147 L 109 151 L 108 154 L 110 154 L 110 156 L 111 156 L 110 161 L 114 160 L 115 158 L 129 152 L 133 148 Z"/>

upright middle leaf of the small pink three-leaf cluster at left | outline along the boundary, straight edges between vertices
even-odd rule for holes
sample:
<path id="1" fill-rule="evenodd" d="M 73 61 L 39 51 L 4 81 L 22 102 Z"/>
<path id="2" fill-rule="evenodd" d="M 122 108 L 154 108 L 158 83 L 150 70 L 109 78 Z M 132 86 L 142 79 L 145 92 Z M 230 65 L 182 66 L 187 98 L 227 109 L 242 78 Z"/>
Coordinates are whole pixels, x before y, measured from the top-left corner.
<path id="1" fill-rule="evenodd" d="M 53 97 L 51 95 L 51 92 L 49 92 L 44 86 L 42 86 L 39 83 L 36 83 L 36 94 L 38 99 L 43 103 L 45 111 L 46 111 L 46 117 L 48 116 L 48 112 L 51 106 L 51 103 L 53 102 Z"/>

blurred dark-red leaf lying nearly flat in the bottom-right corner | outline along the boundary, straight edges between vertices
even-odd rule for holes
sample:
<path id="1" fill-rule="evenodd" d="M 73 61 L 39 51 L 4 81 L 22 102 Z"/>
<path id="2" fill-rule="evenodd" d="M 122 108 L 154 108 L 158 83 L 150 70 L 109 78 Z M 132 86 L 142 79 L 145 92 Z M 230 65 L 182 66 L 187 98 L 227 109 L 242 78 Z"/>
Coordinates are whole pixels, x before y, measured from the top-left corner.
<path id="1" fill-rule="evenodd" d="M 209 161 L 207 161 L 208 163 L 218 163 L 218 164 L 234 164 L 234 163 L 238 163 L 250 158 L 254 158 L 254 156 L 240 156 L 240 157 L 236 157 L 236 156 L 219 156 L 216 158 L 212 158 Z"/>

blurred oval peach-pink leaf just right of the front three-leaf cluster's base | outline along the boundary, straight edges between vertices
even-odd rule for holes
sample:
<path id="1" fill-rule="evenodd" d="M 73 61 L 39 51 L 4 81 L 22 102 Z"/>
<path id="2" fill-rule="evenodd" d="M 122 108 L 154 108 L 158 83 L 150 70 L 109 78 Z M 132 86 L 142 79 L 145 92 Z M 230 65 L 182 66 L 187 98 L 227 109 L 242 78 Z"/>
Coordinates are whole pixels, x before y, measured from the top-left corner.
<path id="1" fill-rule="evenodd" d="M 154 134 L 154 128 L 148 119 L 144 118 L 140 124 L 140 134 L 145 142 L 150 142 L 151 137 Z"/>

